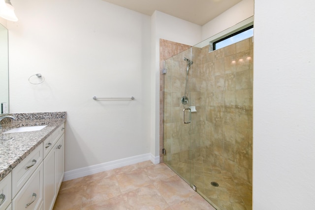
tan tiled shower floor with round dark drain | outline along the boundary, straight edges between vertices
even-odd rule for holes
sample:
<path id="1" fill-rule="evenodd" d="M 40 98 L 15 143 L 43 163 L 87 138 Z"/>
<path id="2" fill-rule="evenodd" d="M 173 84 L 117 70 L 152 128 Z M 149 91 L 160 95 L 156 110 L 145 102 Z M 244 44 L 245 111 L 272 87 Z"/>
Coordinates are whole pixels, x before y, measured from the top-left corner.
<path id="1" fill-rule="evenodd" d="M 166 164 L 169 166 L 169 163 Z M 233 176 L 202 157 L 171 165 L 170 168 L 182 178 L 191 180 L 197 192 L 217 210 L 252 210 L 252 184 L 244 179 Z M 211 182 L 217 182 L 219 186 L 215 187 Z"/>

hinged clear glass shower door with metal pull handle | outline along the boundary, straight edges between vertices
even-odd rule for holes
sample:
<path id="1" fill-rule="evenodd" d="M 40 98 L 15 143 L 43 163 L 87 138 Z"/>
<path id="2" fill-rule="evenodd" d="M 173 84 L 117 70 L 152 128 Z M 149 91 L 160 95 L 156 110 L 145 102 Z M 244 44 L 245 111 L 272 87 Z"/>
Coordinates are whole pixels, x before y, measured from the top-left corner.
<path id="1" fill-rule="evenodd" d="M 190 140 L 195 133 L 190 121 L 191 48 L 165 61 L 163 162 L 190 183 Z"/>

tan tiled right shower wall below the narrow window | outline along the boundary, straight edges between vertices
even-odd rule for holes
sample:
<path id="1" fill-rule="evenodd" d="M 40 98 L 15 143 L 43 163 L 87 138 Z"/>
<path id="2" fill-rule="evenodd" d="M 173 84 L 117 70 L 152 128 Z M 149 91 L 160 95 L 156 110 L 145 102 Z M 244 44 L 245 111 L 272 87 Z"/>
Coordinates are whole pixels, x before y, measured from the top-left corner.
<path id="1" fill-rule="evenodd" d="M 205 109 L 201 157 L 250 183 L 252 61 L 252 38 L 211 53 L 208 47 L 201 49 L 201 108 Z"/>

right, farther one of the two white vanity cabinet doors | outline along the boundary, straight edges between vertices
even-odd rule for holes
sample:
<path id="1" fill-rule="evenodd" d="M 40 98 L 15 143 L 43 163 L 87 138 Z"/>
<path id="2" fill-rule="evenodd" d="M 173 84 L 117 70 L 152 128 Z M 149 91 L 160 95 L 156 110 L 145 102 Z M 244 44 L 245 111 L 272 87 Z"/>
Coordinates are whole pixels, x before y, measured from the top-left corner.
<path id="1" fill-rule="evenodd" d="M 64 175 L 64 134 L 55 145 L 55 173 L 56 192 L 59 191 Z"/>

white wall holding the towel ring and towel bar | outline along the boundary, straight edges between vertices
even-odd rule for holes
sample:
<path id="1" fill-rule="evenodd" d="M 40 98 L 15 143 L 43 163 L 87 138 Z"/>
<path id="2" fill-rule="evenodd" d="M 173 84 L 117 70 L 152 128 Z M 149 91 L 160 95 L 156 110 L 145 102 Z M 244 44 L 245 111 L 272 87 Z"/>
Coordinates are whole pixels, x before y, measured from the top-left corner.
<path id="1" fill-rule="evenodd" d="M 67 111 L 65 171 L 149 153 L 150 17 L 103 0 L 12 4 L 10 112 Z"/>

